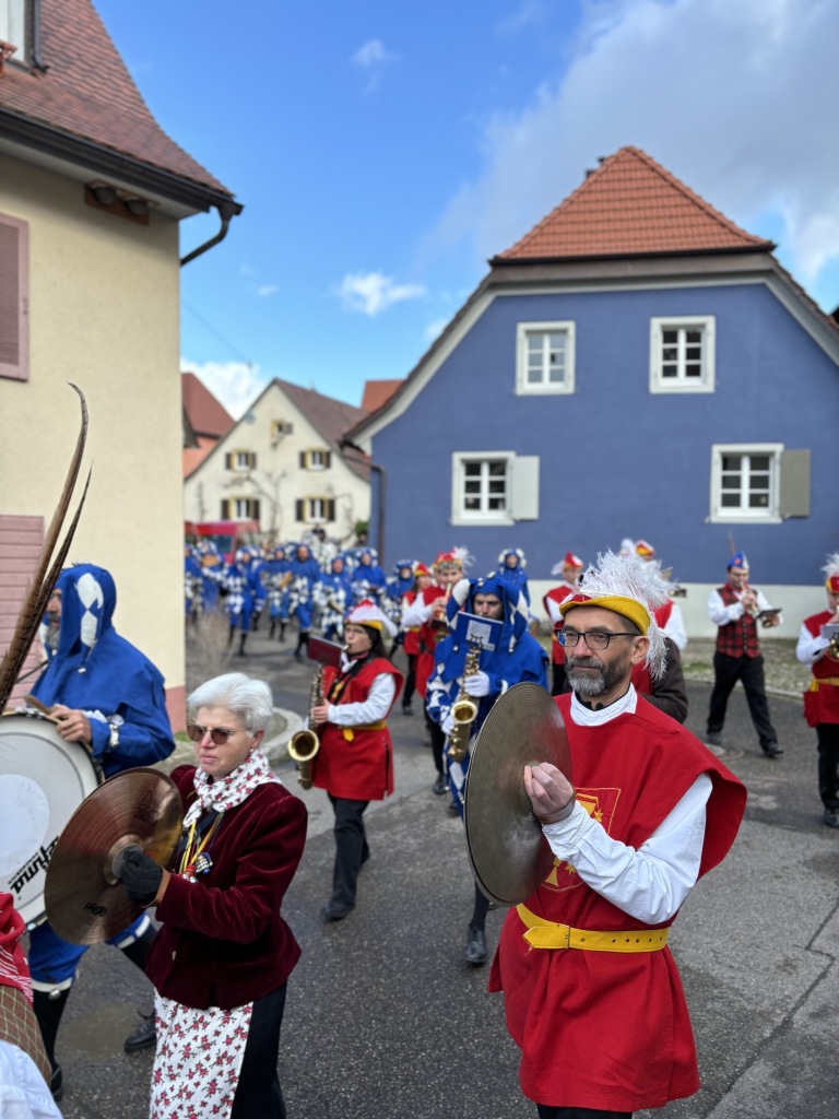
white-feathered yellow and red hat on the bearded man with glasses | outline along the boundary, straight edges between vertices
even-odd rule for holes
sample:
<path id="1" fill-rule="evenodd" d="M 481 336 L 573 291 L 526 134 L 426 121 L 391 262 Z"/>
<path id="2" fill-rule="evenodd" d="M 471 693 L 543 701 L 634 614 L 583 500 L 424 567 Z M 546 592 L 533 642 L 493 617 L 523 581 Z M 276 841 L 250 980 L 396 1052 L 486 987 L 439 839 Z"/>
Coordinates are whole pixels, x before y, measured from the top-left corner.
<path id="1" fill-rule="evenodd" d="M 629 618 L 650 639 L 644 665 L 652 679 L 660 679 L 667 665 L 667 647 L 653 611 L 667 602 L 669 590 L 670 583 L 657 564 L 638 555 L 597 553 L 596 566 L 590 565 L 579 581 L 579 593 L 560 603 L 559 613 L 565 618 L 574 606 L 591 603 Z"/>

